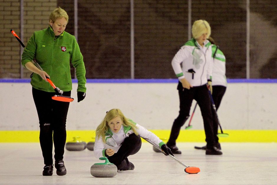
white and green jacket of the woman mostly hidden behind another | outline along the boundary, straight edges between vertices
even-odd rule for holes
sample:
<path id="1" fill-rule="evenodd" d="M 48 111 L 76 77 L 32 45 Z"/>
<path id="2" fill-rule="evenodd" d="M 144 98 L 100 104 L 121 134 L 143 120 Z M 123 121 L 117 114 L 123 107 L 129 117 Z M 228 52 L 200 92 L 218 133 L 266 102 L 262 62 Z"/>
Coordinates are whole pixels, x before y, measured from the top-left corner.
<path id="1" fill-rule="evenodd" d="M 216 53 L 215 53 L 216 52 Z M 212 85 L 227 86 L 226 80 L 226 59 L 222 51 L 216 45 L 212 45 L 213 67 L 212 67 Z"/>

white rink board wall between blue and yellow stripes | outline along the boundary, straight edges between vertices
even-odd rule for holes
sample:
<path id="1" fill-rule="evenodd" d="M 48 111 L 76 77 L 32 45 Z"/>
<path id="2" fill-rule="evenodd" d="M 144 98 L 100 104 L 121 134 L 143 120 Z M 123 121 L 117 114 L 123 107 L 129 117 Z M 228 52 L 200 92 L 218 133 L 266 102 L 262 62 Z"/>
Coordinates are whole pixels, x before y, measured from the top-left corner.
<path id="1" fill-rule="evenodd" d="M 95 130 L 112 108 L 149 130 L 170 130 L 179 111 L 176 87 L 176 83 L 87 83 L 87 96 L 77 103 L 73 83 L 75 100 L 70 103 L 67 130 Z M 0 83 L 0 130 L 39 130 L 31 89 L 28 82 Z M 223 129 L 277 130 L 276 91 L 277 83 L 229 83 L 218 110 Z M 199 107 L 192 125 L 203 129 Z"/>

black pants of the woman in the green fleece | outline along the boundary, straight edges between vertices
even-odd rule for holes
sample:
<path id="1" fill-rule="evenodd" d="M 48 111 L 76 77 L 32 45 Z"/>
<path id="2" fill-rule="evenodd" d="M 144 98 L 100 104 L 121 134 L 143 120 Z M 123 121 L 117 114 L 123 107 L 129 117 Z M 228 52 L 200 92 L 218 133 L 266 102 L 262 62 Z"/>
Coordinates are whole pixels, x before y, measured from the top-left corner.
<path id="1" fill-rule="evenodd" d="M 39 117 L 39 142 L 45 165 L 53 164 L 52 148 L 55 147 L 55 160 L 62 160 L 65 152 L 66 117 L 69 102 L 52 100 L 56 93 L 50 93 L 32 88 L 34 103 Z M 70 96 L 71 91 L 63 92 Z"/>

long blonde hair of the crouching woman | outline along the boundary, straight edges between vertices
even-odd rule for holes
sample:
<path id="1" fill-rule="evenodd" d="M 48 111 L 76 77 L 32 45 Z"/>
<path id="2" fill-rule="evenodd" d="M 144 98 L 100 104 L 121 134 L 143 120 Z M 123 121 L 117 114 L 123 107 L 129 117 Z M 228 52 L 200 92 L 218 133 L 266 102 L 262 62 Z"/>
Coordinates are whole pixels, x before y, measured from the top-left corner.
<path id="1" fill-rule="evenodd" d="M 136 131 L 136 129 L 138 127 L 136 127 L 136 125 L 128 118 L 126 118 L 124 116 L 124 114 L 121 112 L 120 109 L 111 109 L 109 110 L 104 119 L 102 120 L 102 122 L 100 123 L 100 125 L 98 125 L 98 127 L 96 128 L 96 137 L 98 137 L 98 139 L 100 138 L 100 136 L 102 136 L 103 142 L 106 143 L 105 141 L 105 133 L 108 131 L 109 126 L 108 126 L 108 122 L 111 121 L 113 118 L 115 117 L 120 117 L 122 122 L 123 122 L 123 126 L 128 127 L 131 126 L 131 129 L 133 130 L 133 132 L 136 135 L 139 135 L 138 132 Z"/>

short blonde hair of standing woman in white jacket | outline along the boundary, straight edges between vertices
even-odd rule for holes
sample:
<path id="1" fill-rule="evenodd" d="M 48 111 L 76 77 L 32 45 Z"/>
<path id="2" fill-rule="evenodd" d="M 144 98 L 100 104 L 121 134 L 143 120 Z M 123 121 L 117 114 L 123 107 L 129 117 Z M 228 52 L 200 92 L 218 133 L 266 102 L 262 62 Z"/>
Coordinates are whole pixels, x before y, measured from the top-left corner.
<path id="1" fill-rule="evenodd" d="M 210 24 L 205 20 L 197 20 L 194 21 L 192 25 L 192 37 L 197 39 L 199 38 L 203 33 L 208 33 L 207 39 L 211 35 L 211 27 Z"/>

